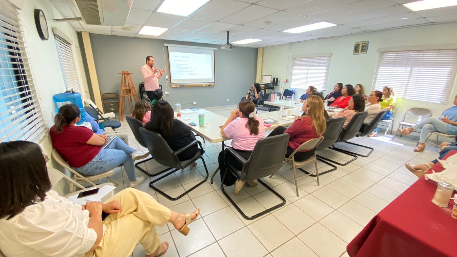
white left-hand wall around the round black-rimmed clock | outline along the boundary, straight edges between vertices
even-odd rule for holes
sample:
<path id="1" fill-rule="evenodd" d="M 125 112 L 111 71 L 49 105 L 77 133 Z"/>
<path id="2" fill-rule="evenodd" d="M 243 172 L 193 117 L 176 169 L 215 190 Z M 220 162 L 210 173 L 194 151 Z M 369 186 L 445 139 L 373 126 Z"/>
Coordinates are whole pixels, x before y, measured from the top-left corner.
<path id="1" fill-rule="evenodd" d="M 49 39 L 47 41 L 41 40 L 38 36 L 37 28 L 35 26 L 34 9 L 41 9 L 46 16 L 49 29 Z M 79 50 L 79 43 L 76 32 L 66 22 L 54 22 L 54 18 L 62 18 L 60 14 L 53 8 L 48 0 L 25 0 L 24 6 L 20 12 L 21 25 L 24 30 L 24 40 L 26 42 L 28 57 L 31 62 L 32 78 L 37 88 L 37 93 L 40 98 L 40 107 L 43 112 L 45 124 L 50 128 L 54 124 L 54 105 L 52 97 L 54 94 L 62 93 L 65 91 L 64 78 L 57 55 L 57 48 L 54 43 L 54 35 L 52 27 L 57 27 L 60 31 L 73 41 L 74 59 L 76 68 L 80 77 L 80 85 L 85 86 L 85 73 L 81 69 L 80 61 L 77 59 L 76 50 Z M 84 89 L 85 90 L 85 89 Z M 51 156 L 52 143 L 48 136 L 39 142 L 43 152 Z M 51 163 L 50 166 L 57 166 Z M 61 167 L 56 167 L 62 170 Z M 62 193 L 65 183 L 59 184 L 59 193 Z"/>

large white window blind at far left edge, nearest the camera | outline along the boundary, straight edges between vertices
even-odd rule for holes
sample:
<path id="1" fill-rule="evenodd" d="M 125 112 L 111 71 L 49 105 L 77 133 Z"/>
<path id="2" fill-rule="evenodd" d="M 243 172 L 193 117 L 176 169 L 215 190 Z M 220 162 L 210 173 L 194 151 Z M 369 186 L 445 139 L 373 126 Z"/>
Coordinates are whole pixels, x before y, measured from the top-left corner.
<path id="1" fill-rule="evenodd" d="M 0 0 L 0 139 L 37 141 L 46 132 L 17 7 Z"/>

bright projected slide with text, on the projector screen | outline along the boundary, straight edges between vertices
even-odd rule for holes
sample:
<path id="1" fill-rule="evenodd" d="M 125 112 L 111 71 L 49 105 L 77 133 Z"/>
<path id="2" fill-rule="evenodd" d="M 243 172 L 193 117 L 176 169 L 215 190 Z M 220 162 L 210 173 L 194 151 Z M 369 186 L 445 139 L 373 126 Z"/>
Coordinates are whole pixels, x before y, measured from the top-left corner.
<path id="1" fill-rule="evenodd" d="M 183 79 L 211 79 L 211 54 L 170 52 L 171 77 Z"/>

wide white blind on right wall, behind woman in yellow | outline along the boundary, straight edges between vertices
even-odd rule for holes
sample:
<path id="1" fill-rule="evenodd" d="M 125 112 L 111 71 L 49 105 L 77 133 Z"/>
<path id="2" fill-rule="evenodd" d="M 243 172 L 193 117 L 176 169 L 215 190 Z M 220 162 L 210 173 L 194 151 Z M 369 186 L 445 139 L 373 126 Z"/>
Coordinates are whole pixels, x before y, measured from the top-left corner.
<path id="1" fill-rule="evenodd" d="M 373 90 L 393 86 L 395 96 L 446 104 L 456 77 L 457 49 L 381 52 Z"/>

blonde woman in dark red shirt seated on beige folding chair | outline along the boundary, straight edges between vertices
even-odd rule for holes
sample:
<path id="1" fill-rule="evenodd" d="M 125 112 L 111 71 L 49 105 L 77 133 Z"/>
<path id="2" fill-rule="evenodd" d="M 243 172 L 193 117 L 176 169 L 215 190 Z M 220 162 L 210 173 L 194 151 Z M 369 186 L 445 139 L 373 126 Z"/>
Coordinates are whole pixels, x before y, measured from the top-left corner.
<path id="1" fill-rule="evenodd" d="M 295 121 L 288 129 L 279 126 L 268 136 L 289 133 L 289 144 L 287 145 L 286 157 L 292 155 L 297 148 L 310 139 L 315 139 L 324 134 L 327 129 L 324 117 L 324 101 L 319 96 L 311 95 L 303 102 L 302 116 L 295 116 Z M 314 150 L 297 152 L 294 155 L 295 161 L 304 161 L 311 155 Z"/>

